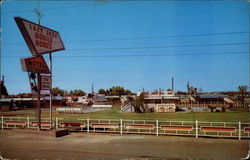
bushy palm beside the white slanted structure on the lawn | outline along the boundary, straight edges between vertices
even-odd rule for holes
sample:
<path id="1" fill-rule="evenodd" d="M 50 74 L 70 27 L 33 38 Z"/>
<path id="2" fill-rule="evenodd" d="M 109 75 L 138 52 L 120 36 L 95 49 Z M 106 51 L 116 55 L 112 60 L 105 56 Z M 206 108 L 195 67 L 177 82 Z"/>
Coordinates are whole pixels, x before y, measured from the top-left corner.
<path id="1" fill-rule="evenodd" d="M 149 112 L 147 106 L 144 103 L 144 93 L 140 93 L 140 95 L 132 97 L 128 96 L 125 105 L 130 104 L 135 108 L 135 112 L 137 113 L 147 113 Z"/>

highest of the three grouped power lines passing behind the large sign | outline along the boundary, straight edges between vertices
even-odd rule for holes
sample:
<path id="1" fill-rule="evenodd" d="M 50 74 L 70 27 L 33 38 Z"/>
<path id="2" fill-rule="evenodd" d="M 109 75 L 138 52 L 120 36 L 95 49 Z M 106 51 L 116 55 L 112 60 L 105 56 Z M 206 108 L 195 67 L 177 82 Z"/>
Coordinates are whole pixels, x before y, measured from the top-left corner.
<path id="1" fill-rule="evenodd" d="M 249 32 L 224 32 L 224 33 L 208 33 L 208 34 L 188 34 L 188 35 L 169 35 L 169 36 L 150 36 L 150 37 L 130 37 L 130 38 L 113 38 L 113 39 L 96 39 L 96 40 L 79 40 L 79 41 L 64 41 L 67 43 L 79 42 L 98 42 L 98 41 L 125 41 L 125 40 L 145 40 L 145 39 L 165 39 L 165 38 L 178 38 L 178 37 L 201 37 L 201 36 L 220 36 L 228 34 L 245 34 Z M 24 44 L 24 42 L 6 43 L 4 45 L 17 45 Z"/>

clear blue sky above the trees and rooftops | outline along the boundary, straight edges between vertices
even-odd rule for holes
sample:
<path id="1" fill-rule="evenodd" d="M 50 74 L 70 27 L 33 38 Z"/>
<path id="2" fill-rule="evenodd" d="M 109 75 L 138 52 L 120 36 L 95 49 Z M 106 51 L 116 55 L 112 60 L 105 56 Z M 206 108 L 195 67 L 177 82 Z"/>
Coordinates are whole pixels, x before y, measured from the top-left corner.
<path id="1" fill-rule="evenodd" d="M 31 53 L 14 21 L 37 23 L 37 1 L 1 3 L 1 75 L 9 94 L 30 92 L 20 58 Z M 191 86 L 204 92 L 249 86 L 247 1 L 44 1 L 41 25 L 59 32 L 53 87 L 133 92 Z M 43 55 L 49 64 L 48 54 Z"/>

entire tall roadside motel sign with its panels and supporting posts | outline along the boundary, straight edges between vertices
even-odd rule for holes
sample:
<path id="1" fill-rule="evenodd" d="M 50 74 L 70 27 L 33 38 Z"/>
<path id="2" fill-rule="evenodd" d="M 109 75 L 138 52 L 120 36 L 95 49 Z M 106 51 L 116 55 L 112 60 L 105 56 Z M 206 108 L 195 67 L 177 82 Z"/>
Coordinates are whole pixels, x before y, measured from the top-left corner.
<path id="1" fill-rule="evenodd" d="M 38 11 L 39 12 L 39 11 Z M 16 24 L 22 33 L 22 36 L 33 56 L 27 59 L 21 59 L 22 69 L 26 72 L 37 73 L 38 78 L 38 128 L 40 130 L 41 109 L 40 109 L 40 91 L 50 86 L 50 128 L 52 128 L 52 52 L 65 50 L 63 42 L 59 33 L 55 30 L 40 25 L 40 18 L 38 16 L 38 23 L 28 21 L 21 17 L 14 17 Z M 49 53 L 50 69 L 42 57 L 42 54 Z M 40 73 L 51 74 L 50 85 L 41 82 Z"/>

